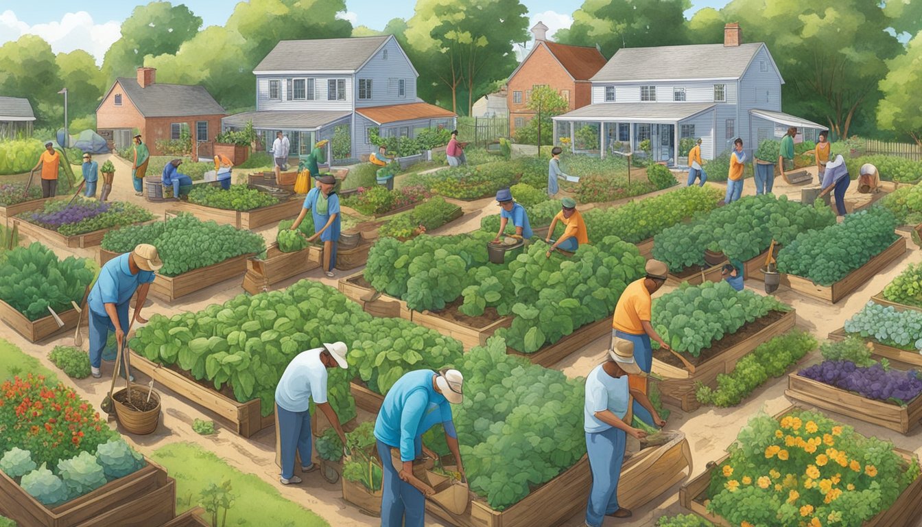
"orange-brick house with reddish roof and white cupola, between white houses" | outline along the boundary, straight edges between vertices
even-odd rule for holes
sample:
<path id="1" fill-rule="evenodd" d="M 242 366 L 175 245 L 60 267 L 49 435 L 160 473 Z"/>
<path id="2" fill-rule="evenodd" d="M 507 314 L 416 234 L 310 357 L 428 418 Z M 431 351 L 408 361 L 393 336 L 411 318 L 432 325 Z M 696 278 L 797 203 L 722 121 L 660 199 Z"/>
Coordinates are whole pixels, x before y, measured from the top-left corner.
<path id="1" fill-rule="evenodd" d="M 547 30 L 541 22 L 531 29 L 535 46 L 509 76 L 507 102 L 511 135 L 535 116 L 526 106 L 532 88 L 549 85 L 570 102 L 568 112 L 582 108 L 592 102 L 589 79 L 607 62 L 595 47 L 548 42 Z"/>

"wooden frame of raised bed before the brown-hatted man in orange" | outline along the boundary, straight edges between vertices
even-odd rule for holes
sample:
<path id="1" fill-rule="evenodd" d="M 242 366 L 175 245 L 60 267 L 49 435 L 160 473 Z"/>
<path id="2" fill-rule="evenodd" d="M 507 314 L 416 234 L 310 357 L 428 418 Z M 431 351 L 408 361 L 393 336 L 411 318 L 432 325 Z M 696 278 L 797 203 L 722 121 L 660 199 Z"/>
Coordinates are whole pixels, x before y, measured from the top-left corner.
<path id="1" fill-rule="evenodd" d="M 772 311 L 765 317 L 746 324 L 736 333 L 712 342 L 699 356 L 685 356 L 691 363 L 691 369 L 668 351 L 654 351 L 651 371 L 664 377 L 657 383 L 662 401 L 685 412 L 697 410 L 701 407 L 701 403 L 695 397 L 697 383 L 701 382 L 715 388 L 719 374 L 732 372 L 739 359 L 746 353 L 751 353 L 763 342 L 792 329 L 796 321 L 797 314 L 794 310 L 786 313 Z"/>

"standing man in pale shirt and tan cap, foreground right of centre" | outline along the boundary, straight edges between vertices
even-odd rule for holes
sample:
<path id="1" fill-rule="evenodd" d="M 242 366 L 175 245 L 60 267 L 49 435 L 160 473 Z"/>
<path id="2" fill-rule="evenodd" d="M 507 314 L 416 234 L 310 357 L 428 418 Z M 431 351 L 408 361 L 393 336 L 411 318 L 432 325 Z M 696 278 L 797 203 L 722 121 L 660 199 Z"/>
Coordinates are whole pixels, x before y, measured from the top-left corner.
<path id="1" fill-rule="evenodd" d="M 644 392 L 628 386 L 628 375 L 643 375 L 633 358 L 631 341 L 616 337 L 609 360 L 585 377 L 585 448 L 592 471 L 592 488 L 585 509 L 585 524 L 601 527 L 606 516 L 629 518 L 632 513 L 618 505 L 618 480 L 627 434 L 642 439 L 646 432 L 631 425 L 631 397 L 653 415 L 657 426 L 666 425 Z"/>

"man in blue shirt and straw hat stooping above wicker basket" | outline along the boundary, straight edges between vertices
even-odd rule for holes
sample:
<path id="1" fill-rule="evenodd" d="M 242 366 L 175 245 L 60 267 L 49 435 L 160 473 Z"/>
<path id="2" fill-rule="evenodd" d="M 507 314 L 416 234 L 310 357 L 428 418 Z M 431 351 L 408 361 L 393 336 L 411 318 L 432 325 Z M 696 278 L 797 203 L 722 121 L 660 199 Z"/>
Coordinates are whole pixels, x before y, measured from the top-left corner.
<path id="1" fill-rule="evenodd" d="M 128 303 L 137 292 L 134 319 L 144 324 L 141 306 L 148 298 L 154 273 L 163 267 L 157 247 L 140 244 L 130 253 L 112 258 L 100 269 L 100 277 L 89 291 L 89 365 L 93 377 L 102 377 L 100 365 L 102 350 L 106 347 L 109 331 L 115 332 L 119 353 L 125 338 L 128 322 Z"/>

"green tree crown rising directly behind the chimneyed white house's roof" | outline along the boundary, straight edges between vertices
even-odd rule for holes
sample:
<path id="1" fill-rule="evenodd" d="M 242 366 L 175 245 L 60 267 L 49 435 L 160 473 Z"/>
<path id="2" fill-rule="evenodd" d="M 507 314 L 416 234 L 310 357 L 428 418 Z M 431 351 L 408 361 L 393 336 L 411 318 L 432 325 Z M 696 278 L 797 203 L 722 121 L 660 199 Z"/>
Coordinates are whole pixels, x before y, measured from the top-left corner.
<path id="1" fill-rule="evenodd" d="M 622 47 L 686 43 L 685 10 L 691 0 L 585 0 L 573 25 L 555 34 L 558 42 L 598 44 L 611 56 Z"/>

